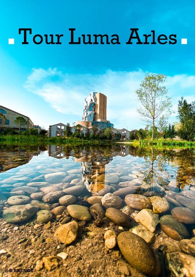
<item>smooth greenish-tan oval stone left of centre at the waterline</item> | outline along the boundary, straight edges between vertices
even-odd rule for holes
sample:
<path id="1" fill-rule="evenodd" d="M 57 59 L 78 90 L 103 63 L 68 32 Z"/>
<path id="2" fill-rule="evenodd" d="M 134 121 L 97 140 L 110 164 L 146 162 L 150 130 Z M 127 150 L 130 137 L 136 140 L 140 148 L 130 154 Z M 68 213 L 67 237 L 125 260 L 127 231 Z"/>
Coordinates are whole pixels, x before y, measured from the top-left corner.
<path id="1" fill-rule="evenodd" d="M 80 221 L 90 221 L 91 214 L 89 213 L 89 209 L 85 206 L 80 205 L 69 205 L 67 207 L 68 214 L 72 216 L 74 219 Z"/>

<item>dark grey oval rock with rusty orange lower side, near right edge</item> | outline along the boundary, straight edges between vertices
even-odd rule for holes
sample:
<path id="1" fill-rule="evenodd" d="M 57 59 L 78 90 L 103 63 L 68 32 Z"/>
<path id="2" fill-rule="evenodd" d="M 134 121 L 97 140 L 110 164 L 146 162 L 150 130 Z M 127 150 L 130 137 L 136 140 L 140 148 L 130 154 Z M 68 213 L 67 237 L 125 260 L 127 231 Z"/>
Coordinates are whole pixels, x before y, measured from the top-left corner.
<path id="1" fill-rule="evenodd" d="M 172 215 L 164 215 L 160 218 L 160 226 L 169 237 L 175 240 L 188 239 L 189 233 L 185 225 L 178 222 Z"/>

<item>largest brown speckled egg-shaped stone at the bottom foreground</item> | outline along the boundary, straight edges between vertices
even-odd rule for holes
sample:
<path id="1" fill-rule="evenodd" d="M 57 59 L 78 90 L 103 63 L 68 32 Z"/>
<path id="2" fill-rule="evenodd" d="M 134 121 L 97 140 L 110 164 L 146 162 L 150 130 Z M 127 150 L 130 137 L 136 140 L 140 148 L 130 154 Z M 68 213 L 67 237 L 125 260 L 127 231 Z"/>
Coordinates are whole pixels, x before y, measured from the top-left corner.
<path id="1" fill-rule="evenodd" d="M 149 244 L 131 232 L 118 235 L 118 246 L 131 266 L 147 276 L 159 276 L 160 263 Z"/>

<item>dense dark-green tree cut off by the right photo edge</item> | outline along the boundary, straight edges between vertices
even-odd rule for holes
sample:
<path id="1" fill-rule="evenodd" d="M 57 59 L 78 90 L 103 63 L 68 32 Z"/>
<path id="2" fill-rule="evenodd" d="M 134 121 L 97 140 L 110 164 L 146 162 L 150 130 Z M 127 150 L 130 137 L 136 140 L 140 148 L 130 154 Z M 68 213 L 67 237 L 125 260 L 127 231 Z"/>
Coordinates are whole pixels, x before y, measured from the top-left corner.
<path id="1" fill-rule="evenodd" d="M 181 139 L 192 140 L 195 135 L 195 101 L 188 103 L 183 97 L 178 103 L 179 129 Z"/>

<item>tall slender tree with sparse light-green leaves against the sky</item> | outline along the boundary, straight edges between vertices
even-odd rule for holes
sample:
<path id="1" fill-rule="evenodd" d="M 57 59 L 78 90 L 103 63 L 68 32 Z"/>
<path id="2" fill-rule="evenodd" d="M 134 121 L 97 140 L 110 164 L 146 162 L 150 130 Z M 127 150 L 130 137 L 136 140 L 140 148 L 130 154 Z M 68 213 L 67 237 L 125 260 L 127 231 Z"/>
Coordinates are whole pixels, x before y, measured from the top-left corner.
<path id="1" fill-rule="evenodd" d="M 168 117 L 171 114 L 171 98 L 168 97 L 167 89 L 162 86 L 166 81 L 164 74 L 146 74 L 135 91 L 141 106 L 137 108 L 138 113 L 144 121 L 152 125 L 152 139 L 155 133 L 155 122 L 162 114 Z"/>

